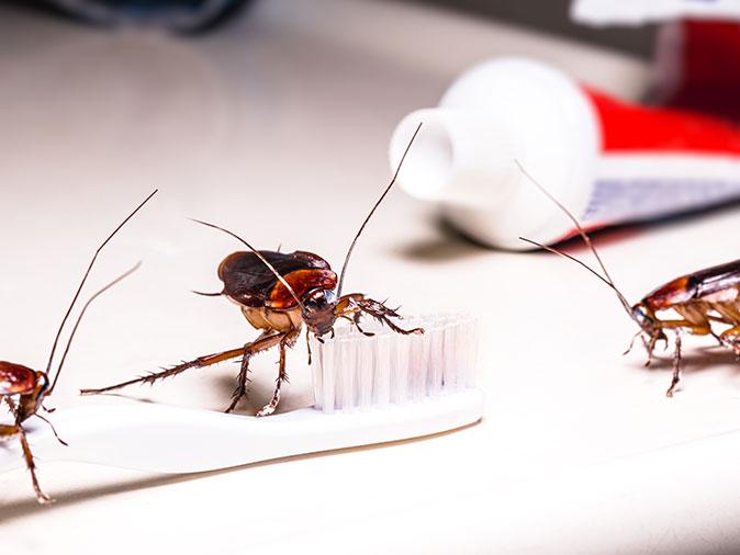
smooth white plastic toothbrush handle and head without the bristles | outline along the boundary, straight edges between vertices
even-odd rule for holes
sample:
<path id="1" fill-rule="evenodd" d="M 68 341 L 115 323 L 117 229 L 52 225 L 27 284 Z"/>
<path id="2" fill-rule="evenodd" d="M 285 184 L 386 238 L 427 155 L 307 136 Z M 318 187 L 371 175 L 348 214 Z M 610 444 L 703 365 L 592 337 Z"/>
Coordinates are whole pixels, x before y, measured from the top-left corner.
<path id="1" fill-rule="evenodd" d="M 259 461 L 428 435 L 480 420 L 483 395 L 467 389 L 438 399 L 357 412 L 305 408 L 268 418 L 165 405 L 59 410 L 54 424 L 26 426 L 34 456 L 159 473 L 194 473 Z M 16 442 L 0 446 L 0 472 L 23 466 Z"/>

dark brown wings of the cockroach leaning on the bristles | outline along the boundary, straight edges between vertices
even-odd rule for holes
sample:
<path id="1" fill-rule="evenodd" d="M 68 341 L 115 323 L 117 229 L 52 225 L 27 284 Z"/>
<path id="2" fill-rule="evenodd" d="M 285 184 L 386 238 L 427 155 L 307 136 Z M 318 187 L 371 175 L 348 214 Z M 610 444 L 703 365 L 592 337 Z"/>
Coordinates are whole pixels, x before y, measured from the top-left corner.
<path id="1" fill-rule="evenodd" d="M 328 262 L 312 252 L 299 250 L 287 253 L 260 250 L 259 253 L 283 278 L 298 270 L 330 271 Z M 245 306 L 253 307 L 265 306 L 276 284 L 279 283 L 265 262 L 250 251 L 238 251 L 226 257 L 218 265 L 218 278 L 224 282 L 223 293 L 225 295 Z"/>

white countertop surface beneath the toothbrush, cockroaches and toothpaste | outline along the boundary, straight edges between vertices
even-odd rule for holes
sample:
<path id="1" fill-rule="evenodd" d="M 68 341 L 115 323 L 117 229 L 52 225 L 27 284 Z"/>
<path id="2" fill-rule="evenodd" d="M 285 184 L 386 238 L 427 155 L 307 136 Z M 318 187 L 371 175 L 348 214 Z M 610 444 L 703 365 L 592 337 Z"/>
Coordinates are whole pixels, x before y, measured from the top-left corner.
<path id="1" fill-rule="evenodd" d="M 189 293 L 215 290 L 215 267 L 236 246 L 186 216 L 338 265 L 386 183 L 395 123 L 434 105 L 470 64 L 537 56 L 627 98 L 647 79 L 618 55 L 392 2 L 262 0 L 195 38 L 104 33 L 4 5 L 0 14 L 3 359 L 43 367 L 91 250 L 161 190 L 94 271 L 90 290 L 144 261 L 91 308 L 51 400 L 58 407 L 132 403 L 76 392 L 255 336 L 227 302 Z M 727 209 L 597 245 L 635 301 L 736 258 L 737 220 Z M 666 399 L 670 353 L 650 370 L 639 349 L 621 356 L 634 324 L 595 279 L 557 257 L 469 245 L 401 191 L 368 227 L 348 280 L 407 313 L 480 317 L 479 424 L 204 475 L 42 461 L 53 507 L 36 505 L 24 471 L 0 475 L 3 552 L 737 552 L 731 354 L 688 338 L 683 388 Z M 283 410 L 310 396 L 295 351 Z M 258 406 L 272 358 L 254 375 Z M 223 364 L 126 393 L 218 410 L 235 376 Z"/>

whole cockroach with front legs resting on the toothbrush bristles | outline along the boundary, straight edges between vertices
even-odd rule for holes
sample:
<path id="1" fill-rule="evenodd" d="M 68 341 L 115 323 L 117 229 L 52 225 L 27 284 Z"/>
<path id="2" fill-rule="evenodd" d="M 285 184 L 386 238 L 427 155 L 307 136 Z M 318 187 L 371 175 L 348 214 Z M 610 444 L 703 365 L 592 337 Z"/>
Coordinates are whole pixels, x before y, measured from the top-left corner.
<path id="1" fill-rule="evenodd" d="M 225 410 L 226 412 L 231 412 L 236 408 L 239 400 L 246 398 L 248 394 L 250 359 L 259 352 L 278 347 L 280 359 L 274 393 L 270 401 L 256 415 L 264 417 L 271 415 L 278 407 L 280 387 L 283 382 L 288 381 L 285 350 L 295 344 L 303 324 L 306 327 L 306 344 L 309 344 L 310 333 L 313 333 L 318 341 L 323 341 L 323 337 L 327 333 L 330 333 L 333 337 L 334 325 L 339 318 L 349 320 L 351 325 L 366 336 L 372 336 L 372 333 L 362 330 L 360 326 L 360 318 L 363 315 L 375 318 L 381 325 L 389 326 L 397 333 L 423 333 L 424 330 L 422 328 L 403 329 L 397 326 L 392 320 L 401 318 L 397 308 L 390 308 L 384 302 L 373 301 L 361 293 L 348 295 L 343 295 L 341 293 L 347 263 L 355 249 L 355 245 L 375 209 L 395 183 L 403 161 L 421 127 L 422 125 L 419 124 L 406 146 L 406 150 L 390 184 L 365 218 L 350 243 L 338 280 L 329 263 L 318 254 L 300 250 L 292 253 L 256 250 L 246 240 L 227 229 L 206 222 L 194 220 L 234 237 L 249 249 L 248 251 L 233 252 L 221 262 L 217 271 L 218 278 L 224 284 L 221 292 L 195 293 L 206 296 L 225 296 L 240 308 L 247 321 L 254 328 L 260 330 L 261 335 L 244 347 L 199 356 L 195 360 L 183 362 L 161 372 L 150 373 L 99 389 L 82 389 L 80 393 L 82 395 L 94 395 L 132 384 L 153 384 L 157 380 L 175 376 L 189 369 L 210 366 L 211 364 L 242 356 L 237 385 L 232 395 L 231 405 Z M 309 364 L 311 364 L 310 344 Z"/>

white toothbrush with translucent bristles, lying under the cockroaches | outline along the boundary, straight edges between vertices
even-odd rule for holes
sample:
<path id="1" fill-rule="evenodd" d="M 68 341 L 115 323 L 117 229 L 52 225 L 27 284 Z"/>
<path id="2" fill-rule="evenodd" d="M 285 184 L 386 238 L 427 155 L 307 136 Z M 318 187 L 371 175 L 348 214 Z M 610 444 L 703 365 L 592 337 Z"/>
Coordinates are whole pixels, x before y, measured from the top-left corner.
<path id="1" fill-rule="evenodd" d="M 429 435 L 480 420 L 474 320 L 437 315 L 410 322 L 426 332 L 401 336 L 374 325 L 367 330 L 375 335 L 367 337 L 347 326 L 333 340 L 314 339 L 313 407 L 264 418 L 143 403 L 78 407 L 55 412 L 69 446 L 37 419 L 29 421 L 27 437 L 41 464 L 197 473 Z M 15 442 L 0 443 L 0 472 L 22 466 Z"/>

